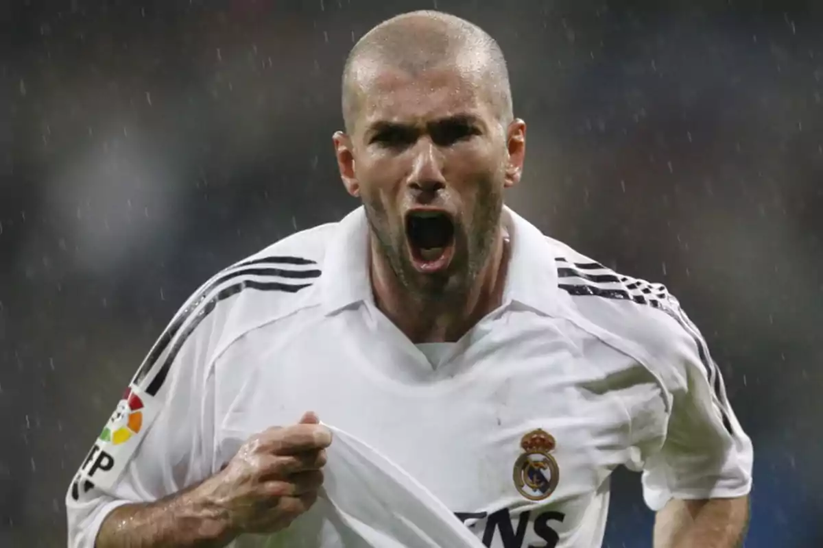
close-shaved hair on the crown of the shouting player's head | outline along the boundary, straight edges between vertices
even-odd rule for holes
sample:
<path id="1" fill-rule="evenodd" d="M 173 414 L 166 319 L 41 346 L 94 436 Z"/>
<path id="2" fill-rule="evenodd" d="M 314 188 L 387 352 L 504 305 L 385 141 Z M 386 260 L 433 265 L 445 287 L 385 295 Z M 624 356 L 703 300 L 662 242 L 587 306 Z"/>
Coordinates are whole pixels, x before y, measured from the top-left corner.
<path id="1" fill-rule="evenodd" d="M 503 51 L 485 30 L 458 16 L 421 10 L 403 13 L 383 21 L 357 41 L 346 58 L 342 81 L 342 113 L 346 132 L 354 131 L 358 113 L 357 63 L 365 59 L 386 62 L 411 74 L 430 67 L 458 62 L 470 53 L 484 63 L 500 121 L 514 118 L 509 71 Z"/>

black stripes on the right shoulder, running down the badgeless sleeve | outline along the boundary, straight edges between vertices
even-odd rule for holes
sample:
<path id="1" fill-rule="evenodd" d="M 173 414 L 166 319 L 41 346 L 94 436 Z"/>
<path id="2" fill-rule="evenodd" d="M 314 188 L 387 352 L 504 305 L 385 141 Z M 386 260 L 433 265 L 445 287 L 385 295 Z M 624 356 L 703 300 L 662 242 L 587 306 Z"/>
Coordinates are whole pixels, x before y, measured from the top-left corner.
<path id="1" fill-rule="evenodd" d="M 672 299 L 663 284 L 649 283 L 641 279 L 621 276 L 597 262 L 573 263 L 563 257 L 557 257 L 556 262 L 557 277 L 560 280 L 558 287 L 570 295 L 631 301 L 640 305 L 658 308 L 676 320 L 681 328 L 694 340 L 714 402 L 717 404 L 723 418 L 723 426 L 726 427 L 729 433 L 734 433 L 728 417 L 728 398 L 718 366 L 709 355 L 709 348 L 704 338 L 700 336 L 700 331 L 689 320 L 689 317 L 682 311 L 677 302 Z M 597 271 L 597 273 L 595 274 L 592 271 Z M 616 284 L 617 287 L 604 288 L 595 285 L 596 283 Z"/>

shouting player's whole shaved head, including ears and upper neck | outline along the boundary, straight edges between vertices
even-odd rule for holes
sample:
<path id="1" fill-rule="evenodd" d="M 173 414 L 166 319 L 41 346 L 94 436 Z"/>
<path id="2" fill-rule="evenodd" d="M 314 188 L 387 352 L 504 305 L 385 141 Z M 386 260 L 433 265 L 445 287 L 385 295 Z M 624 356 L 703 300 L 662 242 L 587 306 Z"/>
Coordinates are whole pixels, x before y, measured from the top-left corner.
<path id="1" fill-rule="evenodd" d="M 434 316 L 463 310 L 503 261 L 503 195 L 520 180 L 526 123 L 500 46 L 445 13 L 393 17 L 351 49 L 342 107 L 337 167 L 369 223 L 375 294 L 394 300 L 379 306 L 439 329 Z"/>

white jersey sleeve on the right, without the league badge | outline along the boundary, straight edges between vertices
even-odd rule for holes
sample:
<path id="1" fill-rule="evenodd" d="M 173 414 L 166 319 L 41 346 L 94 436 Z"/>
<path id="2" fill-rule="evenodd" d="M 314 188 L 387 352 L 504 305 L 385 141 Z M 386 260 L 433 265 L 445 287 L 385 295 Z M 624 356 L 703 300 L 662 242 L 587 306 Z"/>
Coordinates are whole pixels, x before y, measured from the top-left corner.
<path id="1" fill-rule="evenodd" d="M 671 499 L 704 500 L 751 490 L 751 440 L 728 403 L 723 377 L 703 336 L 667 296 L 668 363 L 661 378 L 670 394 L 662 443 L 644 458 L 644 500 L 653 510 Z"/>

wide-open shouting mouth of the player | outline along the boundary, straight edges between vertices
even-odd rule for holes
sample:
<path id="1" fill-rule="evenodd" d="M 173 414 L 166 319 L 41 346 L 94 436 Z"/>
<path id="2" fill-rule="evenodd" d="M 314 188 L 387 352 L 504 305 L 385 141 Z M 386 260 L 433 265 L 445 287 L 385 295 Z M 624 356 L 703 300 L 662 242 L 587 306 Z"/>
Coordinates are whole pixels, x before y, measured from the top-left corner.
<path id="1" fill-rule="evenodd" d="M 416 210 L 406 215 L 412 263 L 421 272 L 449 266 L 454 250 L 454 222 L 443 211 Z"/>

